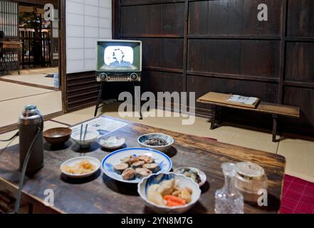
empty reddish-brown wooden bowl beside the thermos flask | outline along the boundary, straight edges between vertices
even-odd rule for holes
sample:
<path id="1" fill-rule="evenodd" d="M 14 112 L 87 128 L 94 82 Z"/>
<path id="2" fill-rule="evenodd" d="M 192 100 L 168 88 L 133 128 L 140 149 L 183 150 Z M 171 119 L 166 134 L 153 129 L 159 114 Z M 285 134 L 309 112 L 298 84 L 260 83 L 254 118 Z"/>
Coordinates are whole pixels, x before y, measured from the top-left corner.
<path id="1" fill-rule="evenodd" d="M 52 145 L 60 145 L 70 139 L 72 130 L 70 128 L 51 128 L 45 130 L 43 138 Z"/>

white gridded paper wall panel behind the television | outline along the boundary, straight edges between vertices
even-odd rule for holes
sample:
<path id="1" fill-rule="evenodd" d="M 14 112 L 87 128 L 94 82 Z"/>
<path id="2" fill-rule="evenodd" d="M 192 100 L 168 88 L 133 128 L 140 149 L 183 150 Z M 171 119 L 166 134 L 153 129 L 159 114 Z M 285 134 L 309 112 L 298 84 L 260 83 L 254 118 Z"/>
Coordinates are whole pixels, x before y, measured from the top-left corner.
<path id="1" fill-rule="evenodd" d="M 95 71 L 95 43 L 112 38 L 111 0 L 66 0 L 66 72 Z"/>

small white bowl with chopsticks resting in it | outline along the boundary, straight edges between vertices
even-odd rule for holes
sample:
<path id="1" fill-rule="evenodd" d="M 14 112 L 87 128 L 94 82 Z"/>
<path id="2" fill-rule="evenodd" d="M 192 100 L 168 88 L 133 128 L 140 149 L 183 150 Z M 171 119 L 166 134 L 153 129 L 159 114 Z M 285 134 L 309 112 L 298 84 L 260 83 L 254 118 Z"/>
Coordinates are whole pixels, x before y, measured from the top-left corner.
<path id="1" fill-rule="evenodd" d="M 74 142 L 78 143 L 82 148 L 88 148 L 90 145 L 97 140 L 99 133 L 93 128 L 88 128 L 85 135 L 85 140 L 83 140 L 85 134 L 85 129 L 82 130 L 82 135 L 80 135 L 80 130 L 75 130 L 71 134 L 71 138 Z M 80 140 L 81 136 L 81 140 Z"/>

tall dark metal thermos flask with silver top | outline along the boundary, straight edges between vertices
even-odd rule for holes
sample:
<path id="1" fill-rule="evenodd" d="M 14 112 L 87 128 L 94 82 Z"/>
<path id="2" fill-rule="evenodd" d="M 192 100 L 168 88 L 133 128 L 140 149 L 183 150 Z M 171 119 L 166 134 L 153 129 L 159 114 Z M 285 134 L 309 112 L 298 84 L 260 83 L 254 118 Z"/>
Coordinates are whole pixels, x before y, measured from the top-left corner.
<path id="1" fill-rule="evenodd" d="M 40 131 L 33 143 L 31 157 L 29 158 L 26 172 L 36 172 L 43 167 L 43 116 L 36 105 L 26 105 L 19 117 L 19 146 L 20 146 L 20 171 L 31 142 Z M 41 129 L 41 130 L 40 130 Z"/>

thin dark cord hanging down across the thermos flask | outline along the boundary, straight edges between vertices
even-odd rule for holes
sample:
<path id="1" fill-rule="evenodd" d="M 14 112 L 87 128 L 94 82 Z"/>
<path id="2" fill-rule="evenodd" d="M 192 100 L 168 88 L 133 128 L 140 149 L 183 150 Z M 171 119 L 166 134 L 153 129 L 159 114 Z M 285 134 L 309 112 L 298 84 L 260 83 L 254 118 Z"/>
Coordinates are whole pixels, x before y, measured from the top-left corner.
<path id="1" fill-rule="evenodd" d="M 21 195 L 22 195 L 22 189 L 23 189 L 23 182 L 24 182 L 24 177 L 25 177 L 25 173 L 26 173 L 26 167 L 28 165 L 28 160 L 31 157 L 31 152 L 33 150 L 33 145 L 36 142 L 38 136 L 41 134 L 42 130 L 43 130 L 43 125 L 38 127 L 38 131 L 36 133 L 36 136 L 35 136 L 35 138 L 33 138 L 33 141 L 31 142 L 31 145 L 29 146 L 28 151 L 26 153 L 26 157 L 24 159 L 23 167 L 22 167 L 22 170 L 21 170 L 21 177 L 20 177 L 20 182 L 19 182 L 19 192 L 18 192 L 18 195 L 16 197 L 16 203 L 15 203 L 15 207 L 14 207 L 14 214 L 17 214 L 19 212 L 19 208 L 20 208 L 20 204 L 21 204 Z"/>

